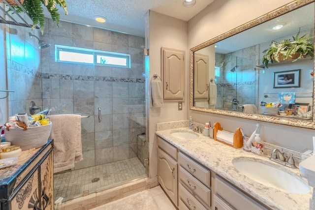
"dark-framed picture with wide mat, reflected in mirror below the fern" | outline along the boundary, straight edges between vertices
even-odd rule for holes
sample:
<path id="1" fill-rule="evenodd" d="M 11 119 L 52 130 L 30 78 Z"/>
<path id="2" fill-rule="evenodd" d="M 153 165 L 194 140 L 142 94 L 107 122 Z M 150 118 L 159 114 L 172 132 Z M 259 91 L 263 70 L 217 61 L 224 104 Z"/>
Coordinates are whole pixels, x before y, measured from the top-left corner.
<path id="1" fill-rule="evenodd" d="M 274 88 L 299 88 L 301 69 L 274 72 Z"/>

